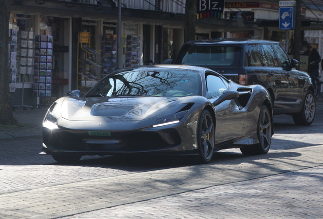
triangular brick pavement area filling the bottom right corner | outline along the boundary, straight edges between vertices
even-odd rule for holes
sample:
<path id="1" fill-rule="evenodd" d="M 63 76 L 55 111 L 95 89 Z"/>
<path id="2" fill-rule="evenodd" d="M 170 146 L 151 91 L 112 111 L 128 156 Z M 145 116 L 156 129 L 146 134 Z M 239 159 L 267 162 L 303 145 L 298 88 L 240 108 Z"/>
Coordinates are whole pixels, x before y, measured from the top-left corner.
<path id="1" fill-rule="evenodd" d="M 322 176 L 319 166 L 62 218 L 317 219 L 323 217 Z"/>

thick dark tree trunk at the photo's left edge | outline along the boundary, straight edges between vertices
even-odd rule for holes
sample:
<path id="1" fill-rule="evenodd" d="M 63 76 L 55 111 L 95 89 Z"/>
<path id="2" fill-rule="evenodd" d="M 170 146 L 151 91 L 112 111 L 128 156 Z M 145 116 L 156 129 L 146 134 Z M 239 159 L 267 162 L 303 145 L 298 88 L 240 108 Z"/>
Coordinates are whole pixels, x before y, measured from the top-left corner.
<path id="1" fill-rule="evenodd" d="M 18 126 L 18 122 L 12 113 L 9 90 L 9 83 L 11 81 L 8 55 L 9 18 L 9 0 L 2 0 L 0 2 L 0 124 Z"/>

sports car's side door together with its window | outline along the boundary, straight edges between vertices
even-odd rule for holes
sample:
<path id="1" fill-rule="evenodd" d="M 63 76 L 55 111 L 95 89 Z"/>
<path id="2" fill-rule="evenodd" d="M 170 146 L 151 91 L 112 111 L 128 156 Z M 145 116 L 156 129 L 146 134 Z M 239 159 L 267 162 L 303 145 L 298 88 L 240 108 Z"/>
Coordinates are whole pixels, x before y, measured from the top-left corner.
<path id="1" fill-rule="evenodd" d="M 229 88 L 229 82 L 211 72 L 206 74 L 207 98 L 214 102 L 224 90 Z M 245 112 L 235 100 L 225 100 L 214 106 L 216 113 L 215 142 L 228 143 L 242 135 Z"/>

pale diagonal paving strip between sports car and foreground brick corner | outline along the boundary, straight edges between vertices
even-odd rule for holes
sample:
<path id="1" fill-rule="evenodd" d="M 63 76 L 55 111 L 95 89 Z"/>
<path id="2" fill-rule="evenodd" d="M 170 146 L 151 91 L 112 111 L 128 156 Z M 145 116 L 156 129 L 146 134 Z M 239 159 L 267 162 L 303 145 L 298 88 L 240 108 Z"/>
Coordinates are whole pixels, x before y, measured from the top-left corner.
<path id="1" fill-rule="evenodd" d="M 19 191 L 19 193 L 6 193 L 0 197 L 0 218 L 57 218 L 198 189 L 211 189 L 236 182 L 243 183 L 245 181 L 248 183 L 251 179 L 319 167 L 323 165 L 322 153 L 322 145 L 293 150 L 276 150 L 267 155 L 244 157 L 208 165 L 160 169 L 51 187 L 43 186 Z M 275 185 L 277 187 L 277 182 Z M 317 191 L 321 197 L 323 197 L 322 193 L 322 190 Z M 245 197 L 242 194 L 239 199 L 244 198 L 243 200 L 246 202 L 246 197 L 248 197 L 247 193 Z M 270 198 L 270 200 L 275 202 L 275 199 Z M 279 202 L 277 201 L 277 203 Z M 264 208 L 267 208 L 268 204 L 264 204 Z M 286 201 L 285 204 L 288 202 Z M 248 210 L 243 209 L 243 206 L 241 204 L 237 208 L 241 208 L 241 211 L 246 215 Z M 209 207 L 212 208 L 212 202 L 209 202 Z M 181 209 L 175 206 L 172 206 L 170 211 L 178 211 L 178 215 L 181 214 Z M 281 215 L 278 212 L 279 210 L 276 210 L 274 214 Z M 289 214 L 288 212 L 283 213 L 286 213 L 286 215 L 283 214 L 284 216 L 290 215 L 290 212 Z M 154 216 L 142 218 L 154 218 Z M 165 216 L 164 218 L 170 217 Z"/>

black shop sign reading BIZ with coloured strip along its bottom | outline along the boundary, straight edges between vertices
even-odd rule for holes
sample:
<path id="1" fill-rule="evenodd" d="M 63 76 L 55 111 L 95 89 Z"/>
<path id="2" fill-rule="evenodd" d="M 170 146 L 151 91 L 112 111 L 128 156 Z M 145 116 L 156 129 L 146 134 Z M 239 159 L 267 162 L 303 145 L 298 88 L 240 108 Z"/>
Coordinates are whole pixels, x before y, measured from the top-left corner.
<path id="1" fill-rule="evenodd" d="M 206 17 L 222 18 L 224 12 L 224 0 L 198 0 L 197 19 Z"/>

